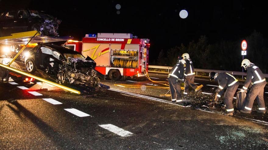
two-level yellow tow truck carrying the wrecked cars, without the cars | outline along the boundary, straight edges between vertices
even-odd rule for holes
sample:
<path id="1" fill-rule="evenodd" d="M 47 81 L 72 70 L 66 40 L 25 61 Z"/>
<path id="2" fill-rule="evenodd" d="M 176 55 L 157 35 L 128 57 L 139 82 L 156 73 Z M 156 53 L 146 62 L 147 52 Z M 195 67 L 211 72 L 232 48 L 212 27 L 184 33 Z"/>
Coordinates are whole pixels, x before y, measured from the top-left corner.
<path id="1" fill-rule="evenodd" d="M 54 80 L 49 78 L 49 76 L 45 76 L 40 74 L 40 72 L 35 72 L 33 74 L 28 73 L 25 68 L 24 64 L 17 61 L 17 58 L 22 54 L 23 50 L 27 48 L 28 45 L 35 44 L 35 43 L 48 43 L 48 42 L 60 42 L 60 41 L 67 41 L 67 39 L 57 38 L 57 37 L 48 37 L 41 35 L 40 32 L 37 31 L 30 31 L 30 32 L 21 32 L 21 33 L 14 33 L 11 36 L 7 37 L 0 37 L 0 45 L 6 46 L 15 46 L 15 45 L 23 45 L 20 50 L 16 50 L 17 53 L 15 56 L 10 58 L 8 57 L 1 57 L 0 56 L 0 75 L 3 79 L 2 81 L 8 81 L 9 77 L 15 80 L 25 80 L 25 81 L 33 81 L 34 79 L 47 83 L 49 85 L 56 86 L 58 88 L 62 88 L 69 92 L 73 92 L 76 94 L 81 93 L 88 93 L 93 91 L 94 89 L 86 86 L 79 86 L 79 85 L 61 85 L 56 83 Z M 108 86 L 102 85 L 103 88 L 109 88 Z"/>

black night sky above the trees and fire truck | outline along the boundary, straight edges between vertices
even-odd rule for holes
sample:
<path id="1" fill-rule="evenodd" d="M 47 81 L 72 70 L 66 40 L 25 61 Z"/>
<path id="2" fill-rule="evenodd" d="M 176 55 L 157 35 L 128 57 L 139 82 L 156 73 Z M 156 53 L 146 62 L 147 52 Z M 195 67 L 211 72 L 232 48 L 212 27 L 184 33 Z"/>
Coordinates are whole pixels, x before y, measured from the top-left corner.
<path id="1" fill-rule="evenodd" d="M 116 4 L 121 5 L 119 15 Z M 206 35 L 210 43 L 220 39 L 236 41 L 253 30 L 265 38 L 268 36 L 267 6 L 257 1 L 0 0 L 1 12 L 14 8 L 43 10 L 61 19 L 60 35 L 71 35 L 76 40 L 98 32 L 132 33 L 138 38 L 150 38 L 153 59 L 161 49 L 187 44 L 200 35 Z M 182 9 L 189 13 L 186 19 L 178 15 Z"/>

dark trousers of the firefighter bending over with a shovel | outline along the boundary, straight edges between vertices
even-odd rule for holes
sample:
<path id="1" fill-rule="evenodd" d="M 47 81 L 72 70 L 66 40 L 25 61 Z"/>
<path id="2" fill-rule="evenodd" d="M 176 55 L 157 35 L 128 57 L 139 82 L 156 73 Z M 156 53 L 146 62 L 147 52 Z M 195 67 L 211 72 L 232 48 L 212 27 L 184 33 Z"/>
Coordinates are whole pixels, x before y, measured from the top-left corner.
<path id="1" fill-rule="evenodd" d="M 239 85 L 240 83 L 237 82 L 236 84 L 229 86 L 225 91 L 224 103 L 226 105 L 226 111 L 228 113 L 234 113 L 233 99 L 234 99 L 234 94 L 236 93 L 236 90 Z"/>

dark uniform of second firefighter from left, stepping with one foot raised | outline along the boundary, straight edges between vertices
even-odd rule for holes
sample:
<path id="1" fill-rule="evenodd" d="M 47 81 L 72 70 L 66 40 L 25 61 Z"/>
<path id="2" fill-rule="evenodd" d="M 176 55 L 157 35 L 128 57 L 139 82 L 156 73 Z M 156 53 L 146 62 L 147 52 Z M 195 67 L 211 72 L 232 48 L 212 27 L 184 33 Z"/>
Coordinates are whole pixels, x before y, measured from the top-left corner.
<path id="1" fill-rule="evenodd" d="M 184 82 L 184 95 L 187 95 L 189 92 L 189 86 L 191 86 L 193 89 L 197 88 L 197 85 L 194 83 L 195 80 L 195 70 L 192 63 L 191 58 L 188 58 L 185 60 L 186 66 L 185 66 L 185 82 Z"/>

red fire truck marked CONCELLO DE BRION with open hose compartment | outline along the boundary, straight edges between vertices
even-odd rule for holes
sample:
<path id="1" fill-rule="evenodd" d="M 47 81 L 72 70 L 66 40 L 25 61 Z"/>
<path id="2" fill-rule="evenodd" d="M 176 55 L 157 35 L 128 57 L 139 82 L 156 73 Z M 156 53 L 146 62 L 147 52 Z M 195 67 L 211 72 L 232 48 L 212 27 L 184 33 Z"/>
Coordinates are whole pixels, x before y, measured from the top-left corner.
<path id="1" fill-rule="evenodd" d="M 69 41 L 69 45 L 92 58 L 97 63 L 95 69 L 111 80 L 144 76 L 144 70 L 148 71 L 149 39 L 133 38 L 129 33 L 98 33 L 97 37 L 83 38 L 82 51 L 77 41 Z"/>

